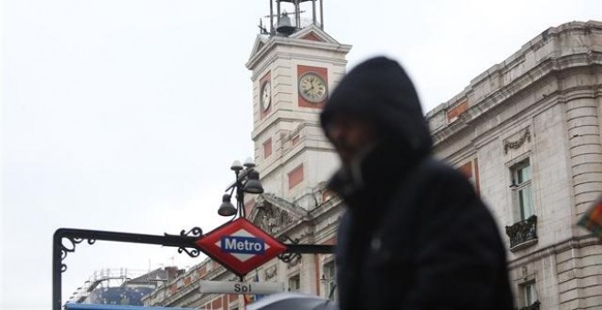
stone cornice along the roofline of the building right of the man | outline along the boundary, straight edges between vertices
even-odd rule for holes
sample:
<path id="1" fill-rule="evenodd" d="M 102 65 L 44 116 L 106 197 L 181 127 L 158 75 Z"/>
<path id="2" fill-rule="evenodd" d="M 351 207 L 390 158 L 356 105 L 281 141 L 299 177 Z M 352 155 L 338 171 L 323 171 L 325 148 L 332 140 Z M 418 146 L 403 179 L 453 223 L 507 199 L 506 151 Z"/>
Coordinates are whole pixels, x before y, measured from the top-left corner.
<path id="1" fill-rule="evenodd" d="M 472 79 L 452 100 L 427 113 L 434 143 L 448 140 L 470 127 L 475 120 L 547 76 L 561 77 L 568 70 L 592 66 L 602 66 L 602 23 L 573 22 L 549 28 L 512 57 Z M 468 108 L 450 121 L 448 112 L 466 100 Z"/>

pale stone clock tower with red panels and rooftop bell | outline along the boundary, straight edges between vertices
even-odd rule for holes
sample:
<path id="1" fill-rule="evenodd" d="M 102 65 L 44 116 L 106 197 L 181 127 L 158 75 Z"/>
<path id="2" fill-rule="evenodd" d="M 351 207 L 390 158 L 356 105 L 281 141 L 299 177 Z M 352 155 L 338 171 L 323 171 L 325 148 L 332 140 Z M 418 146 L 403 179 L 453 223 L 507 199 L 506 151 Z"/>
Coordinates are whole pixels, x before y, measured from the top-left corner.
<path id="1" fill-rule="evenodd" d="M 253 82 L 254 159 L 265 192 L 306 210 L 316 205 L 317 185 L 338 166 L 319 113 L 345 74 L 351 49 L 324 31 L 322 1 L 270 0 L 269 26 L 260 21 L 246 63 Z M 303 18 L 305 12 L 310 18 Z"/>

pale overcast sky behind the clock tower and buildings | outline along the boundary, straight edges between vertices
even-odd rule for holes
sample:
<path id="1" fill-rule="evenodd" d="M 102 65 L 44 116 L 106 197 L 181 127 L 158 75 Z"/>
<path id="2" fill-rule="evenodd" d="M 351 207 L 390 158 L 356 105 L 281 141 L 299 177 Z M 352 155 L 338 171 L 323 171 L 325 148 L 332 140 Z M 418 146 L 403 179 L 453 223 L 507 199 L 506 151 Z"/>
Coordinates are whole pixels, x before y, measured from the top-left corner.
<path id="1" fill-rule="evenodd" d="M 550 26 L 602 20 L 598 0 L 328 1 L 349 67 L 394 57 L 430 110 Z M 5 0 L 0 308 L 48 309 L 59 227 L 179 233 L 216 215 L 253 155 L 244 67 L 268 0 Z M 99 268 L 200 262 L 175 249 L 79 244 L 68 296 Z M 65 301 L 65 300 L 64 300 Z"/>

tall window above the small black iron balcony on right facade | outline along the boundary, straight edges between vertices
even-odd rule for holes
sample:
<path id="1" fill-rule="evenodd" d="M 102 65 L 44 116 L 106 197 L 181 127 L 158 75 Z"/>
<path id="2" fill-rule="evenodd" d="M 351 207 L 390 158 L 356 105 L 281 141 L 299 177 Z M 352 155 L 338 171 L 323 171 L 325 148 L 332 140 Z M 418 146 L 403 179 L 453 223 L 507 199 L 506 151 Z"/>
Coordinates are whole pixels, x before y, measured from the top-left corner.
<path id="1" fill-rule="evenodd" d="M 515 205 L 520 221 L 535 214 L 533 191 L 531 186 L 531 164 L 523 160 L 512 167 L 512 185 L 515 192 Z"/>

